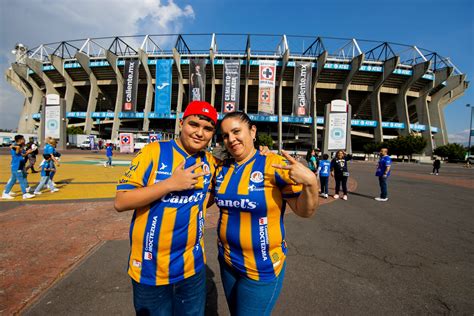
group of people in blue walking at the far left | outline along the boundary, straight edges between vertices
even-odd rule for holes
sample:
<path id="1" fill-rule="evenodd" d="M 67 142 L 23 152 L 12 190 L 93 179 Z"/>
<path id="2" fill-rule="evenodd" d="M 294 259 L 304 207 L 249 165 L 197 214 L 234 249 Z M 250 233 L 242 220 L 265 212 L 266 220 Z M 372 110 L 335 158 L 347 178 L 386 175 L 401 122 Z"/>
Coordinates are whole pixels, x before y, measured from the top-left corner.
<path id="1" fill-rule="evenodd" d="M 42 194 L 45 186 L 48 187 L 51 193 L 59 191 L 53 181 L 56 174 L 56 167 L 60 165 L 59 160 L 61 154 L 56 151 L 56 139 L 48 137 L 46 139 L 43 150 L 43 160 L 39 165 L 40 171 L 35 170 L 36 156 L 39 154 L 38 144 L 30 138 L 28 143 L 25 143 L 23 135 L 16 135 L 14 144 L 10 146 L 11 176 L 5 185 L 2 193 L 2 199 L 11 200 L 15 198 L 15 193 L 12 188 L 16 182 L 19 183 L 23 199 L 34 198 L 35 195 Z M 28 163 L 28 165 L 27 165 Z M 41 172 L 41 180 L 33 191 L 33 188 L 28 183 L 28 170 L 32 173 Z"/>

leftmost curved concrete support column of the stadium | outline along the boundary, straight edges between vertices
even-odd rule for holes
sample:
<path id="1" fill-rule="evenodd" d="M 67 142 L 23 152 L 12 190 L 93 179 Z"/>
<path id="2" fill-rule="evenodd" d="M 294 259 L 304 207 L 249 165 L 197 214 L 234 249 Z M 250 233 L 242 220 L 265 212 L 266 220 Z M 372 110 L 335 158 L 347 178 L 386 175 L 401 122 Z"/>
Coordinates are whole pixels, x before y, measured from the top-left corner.
<path id="1" fill-rule="evenodd" d="M 12 64 L 12 71 L 21 78 L 23 81 L 23 85 L 25 87 L 31 87 L 31 95 L 25 94 L 25 102 L 24 102 L 24 112 L 19 119 L 18 122 L 18 132 L 22 133 L 34 133 L 35 131 L 35 121 L 32 119 L 33 114 L 36 114 L 40 111 L 41 103 L 44 97 L 44 93 L 38 84 L 28 76 L 28 68 L 23 64 Z M 27 84 L 26 84 L 26 83 Z M 28 89 L 29 90 L 29 89 Z M 24 122 L 24 119 L 28 115 L 27 122 Z M 38 136 L 41 135 L 41 124 L 37 130 Z"/>

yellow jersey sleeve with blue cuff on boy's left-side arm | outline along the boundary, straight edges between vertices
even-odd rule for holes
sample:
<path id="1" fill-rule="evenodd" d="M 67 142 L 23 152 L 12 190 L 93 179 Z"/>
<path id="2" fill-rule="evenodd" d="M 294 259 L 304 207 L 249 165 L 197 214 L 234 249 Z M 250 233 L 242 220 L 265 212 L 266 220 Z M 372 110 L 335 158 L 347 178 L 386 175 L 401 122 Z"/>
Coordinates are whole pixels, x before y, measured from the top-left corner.
<path id="1" fill-rule="evenodd" d="M 119 180 L 117 191 L 130 191 L 146 186 L 153 166 L 151 149 L 150 145 L 146 145 L 133 158 L 130 167 Z"/>

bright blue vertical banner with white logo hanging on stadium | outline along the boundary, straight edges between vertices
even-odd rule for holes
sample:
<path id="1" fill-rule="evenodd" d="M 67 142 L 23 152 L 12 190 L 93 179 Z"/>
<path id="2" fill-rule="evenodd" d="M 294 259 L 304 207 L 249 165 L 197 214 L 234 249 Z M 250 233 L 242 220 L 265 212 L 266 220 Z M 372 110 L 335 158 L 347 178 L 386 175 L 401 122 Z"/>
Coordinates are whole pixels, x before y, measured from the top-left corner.
<path id="1" fill-rule="evenodd" d="M 172 59 L 156 60 L 155 113 L 171 113 Z"/>

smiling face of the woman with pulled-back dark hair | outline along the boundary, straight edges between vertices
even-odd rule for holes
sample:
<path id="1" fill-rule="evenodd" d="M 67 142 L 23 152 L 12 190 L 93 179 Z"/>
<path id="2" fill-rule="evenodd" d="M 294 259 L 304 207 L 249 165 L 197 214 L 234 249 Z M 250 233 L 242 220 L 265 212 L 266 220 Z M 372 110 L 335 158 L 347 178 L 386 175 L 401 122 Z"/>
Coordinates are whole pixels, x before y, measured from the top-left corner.
<path id="1" fill-rule="evenodd" d="M 229 118 L 222 121 L 221 129 L 224 145 L 236 161 L 244 160 L 252 153 L 257 133 L 255 125 L 249 128 L 239 118 Z"/>

